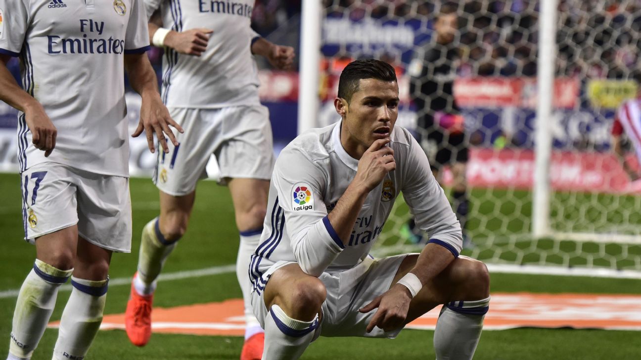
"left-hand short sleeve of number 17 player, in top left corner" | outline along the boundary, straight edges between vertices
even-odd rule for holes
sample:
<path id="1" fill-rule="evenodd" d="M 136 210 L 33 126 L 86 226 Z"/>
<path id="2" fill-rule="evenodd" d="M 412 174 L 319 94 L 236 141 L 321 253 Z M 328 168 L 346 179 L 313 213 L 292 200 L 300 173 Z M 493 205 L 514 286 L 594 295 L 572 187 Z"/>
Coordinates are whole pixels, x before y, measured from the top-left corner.
<path id="1" fill-rule="evenodd" d="M 0 54 L 19 56 L 28 28 L 28 3 L 0 0 Z"/>

